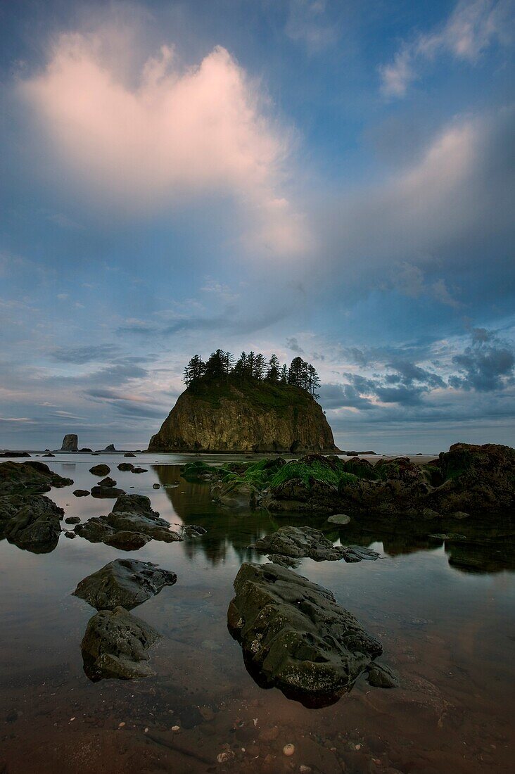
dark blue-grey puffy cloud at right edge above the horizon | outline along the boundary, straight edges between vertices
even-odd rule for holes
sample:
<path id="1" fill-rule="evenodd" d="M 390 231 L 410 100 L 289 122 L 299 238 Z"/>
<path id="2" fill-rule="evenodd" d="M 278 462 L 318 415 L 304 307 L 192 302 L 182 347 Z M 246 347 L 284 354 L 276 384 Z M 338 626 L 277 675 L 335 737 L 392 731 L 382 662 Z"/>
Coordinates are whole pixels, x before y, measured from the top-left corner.
<path id="1" fill-rule="evenodd" d="M 492 392 L 514 383 L 515 348 L 485 328 L 473 330 L 472 344 L 452 361 L 459 373 L 449 383 L 456 389 Z"/>

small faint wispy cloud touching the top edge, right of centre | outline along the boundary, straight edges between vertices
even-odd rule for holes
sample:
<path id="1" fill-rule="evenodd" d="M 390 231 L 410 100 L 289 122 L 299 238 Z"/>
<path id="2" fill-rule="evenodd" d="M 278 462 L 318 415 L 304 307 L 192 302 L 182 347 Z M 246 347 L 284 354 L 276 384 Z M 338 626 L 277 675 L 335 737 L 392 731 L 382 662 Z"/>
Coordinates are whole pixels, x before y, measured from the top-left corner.
<path id="1" fill-rule="evenodd" d="M 325 15 L 326 5 L 325 0 L 290 0 L 286 34 L 304 43 L 309 53 L 318 53 L 338 40 L 335 24 Z"/>

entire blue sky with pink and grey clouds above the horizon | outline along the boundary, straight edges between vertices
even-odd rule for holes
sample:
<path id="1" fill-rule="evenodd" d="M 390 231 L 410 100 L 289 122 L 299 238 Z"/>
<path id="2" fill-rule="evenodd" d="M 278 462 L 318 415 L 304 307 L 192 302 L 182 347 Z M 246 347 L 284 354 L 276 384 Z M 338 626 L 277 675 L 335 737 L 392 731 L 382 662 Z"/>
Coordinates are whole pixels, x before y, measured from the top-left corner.
<path id="1" fill-rule="evenodd" d="M 513 0 L 0 0 L 0 448 L 300 354 L 343 449 L 515 441 Z"/>

